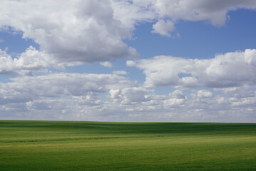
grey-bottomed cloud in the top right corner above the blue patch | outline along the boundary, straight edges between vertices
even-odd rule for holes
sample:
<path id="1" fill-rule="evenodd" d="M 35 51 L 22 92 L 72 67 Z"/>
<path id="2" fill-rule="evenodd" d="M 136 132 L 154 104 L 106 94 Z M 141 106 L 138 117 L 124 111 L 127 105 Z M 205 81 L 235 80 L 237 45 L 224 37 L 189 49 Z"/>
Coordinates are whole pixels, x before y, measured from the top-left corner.
<path id="1" fill-rule="evenodd" d="M 213 25 L 223 25 L 227 19 L 227 11 L 238 8 L 255 9 L 256 2 L 230 0 L 156 0 L 155 11 L 162 17 L 169 17 L 173 21 L 183 19 L 187 21 L 208 20 Z"/>

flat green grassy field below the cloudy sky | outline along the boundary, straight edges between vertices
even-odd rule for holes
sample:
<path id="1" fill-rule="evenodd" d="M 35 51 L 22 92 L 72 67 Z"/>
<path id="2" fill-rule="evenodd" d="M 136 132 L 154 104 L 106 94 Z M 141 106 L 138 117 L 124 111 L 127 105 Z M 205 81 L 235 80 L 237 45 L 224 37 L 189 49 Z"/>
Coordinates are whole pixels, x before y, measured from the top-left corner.
<path id="1" fill-rule="evenodd" d="M 256 125 L 0 120 L 0 170 L 256 170 Z"/>

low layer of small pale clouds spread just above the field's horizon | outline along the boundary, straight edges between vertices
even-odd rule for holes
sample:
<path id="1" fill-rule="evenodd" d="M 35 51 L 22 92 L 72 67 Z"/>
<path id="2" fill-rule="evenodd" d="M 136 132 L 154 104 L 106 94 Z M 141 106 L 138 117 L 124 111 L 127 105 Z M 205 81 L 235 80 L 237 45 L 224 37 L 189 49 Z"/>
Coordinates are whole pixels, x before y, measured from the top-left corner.
<path id="1" fill-rule="evenodd" d="M 226 89 L 217 91 L 225 93 Z M 205 121 L 210 117 L 242 122 L 256 111 L 255 91 L 243 97 L 228 92 L 213 95 L 213 91 L 175 89 L 158 95 L 152 88 L 113 74 L 51 73 L 0 83 L 0 113 L 2 119 L 134 121 L 129 116 L 138 115 L 143 121 L 169 121 L 170 117 Z"/>

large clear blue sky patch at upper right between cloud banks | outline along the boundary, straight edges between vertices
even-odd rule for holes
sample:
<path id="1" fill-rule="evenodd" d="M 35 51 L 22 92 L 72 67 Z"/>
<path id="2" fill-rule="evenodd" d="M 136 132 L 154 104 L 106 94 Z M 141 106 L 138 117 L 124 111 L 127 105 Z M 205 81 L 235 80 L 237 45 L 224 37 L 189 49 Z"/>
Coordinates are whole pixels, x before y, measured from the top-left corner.
<path id="1" fill-rule="evenodd" d="M 153 24 L 141 24 L 134 31 L 135 40 L 125 42 L 137 49 L 140 58 L 159 55 L 214 58 L 216 53 L 255 48 L 255 11 L 239 9 L 227 15 L 230 20 L 220 27 L 207 21 L 178 21 L 179 38 L 150 33 Z"/>

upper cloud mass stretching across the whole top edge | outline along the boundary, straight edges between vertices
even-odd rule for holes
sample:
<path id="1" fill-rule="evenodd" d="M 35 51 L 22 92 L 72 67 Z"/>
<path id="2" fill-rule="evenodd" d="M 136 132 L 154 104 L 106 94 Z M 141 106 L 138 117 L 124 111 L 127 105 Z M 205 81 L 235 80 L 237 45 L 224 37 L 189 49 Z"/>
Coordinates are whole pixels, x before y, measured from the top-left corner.
<path id="1" fill-rule="evenodd" d="M 61 63 L 108 62 L 139 56 L 123 39 L 130 38 L 140 23 L 156 22 L 153 33 L 170 36 L 180 19 L 206 20 L 221 26 L 225 24 L 228 11 L 240 8 L 255 9 L 256 2 L 3 0 L 0 2 L 0 28 L 33 39 L 43 53 Z"/>

